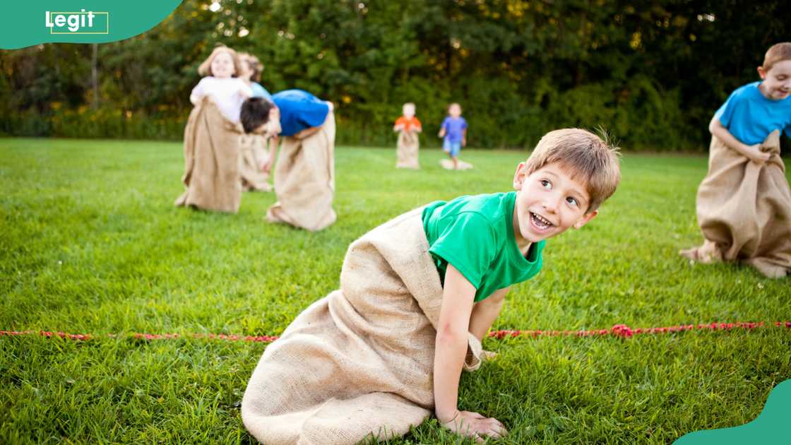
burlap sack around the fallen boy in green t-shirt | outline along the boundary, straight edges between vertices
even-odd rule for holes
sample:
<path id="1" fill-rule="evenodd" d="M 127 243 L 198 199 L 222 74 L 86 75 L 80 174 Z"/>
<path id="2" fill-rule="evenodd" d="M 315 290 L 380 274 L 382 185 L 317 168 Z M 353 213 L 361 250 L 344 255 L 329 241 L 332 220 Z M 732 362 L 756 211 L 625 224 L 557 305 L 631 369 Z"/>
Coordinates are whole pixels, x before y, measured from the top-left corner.
<path id="1" fill-rule="evenodd" d="M 242 400 L 248 431 L 267 444 L 357 443 L 403 435 L 433 411 L 442 287 L 422 209 L 350 245 L 340 289 L 314 302 L 255 367 Z M 480 366 L 469 335 L 465 369 Z"/>

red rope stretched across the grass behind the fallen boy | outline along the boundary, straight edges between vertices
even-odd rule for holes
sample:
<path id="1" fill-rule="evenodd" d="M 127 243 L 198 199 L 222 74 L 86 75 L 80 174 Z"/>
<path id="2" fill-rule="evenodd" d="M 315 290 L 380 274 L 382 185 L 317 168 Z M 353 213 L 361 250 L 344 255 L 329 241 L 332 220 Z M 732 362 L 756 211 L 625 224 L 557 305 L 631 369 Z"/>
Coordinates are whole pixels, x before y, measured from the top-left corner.
<path id="1" fill-rule="evenodd" d="M 751 322 L 740 321 L 736 323 L 708 323 L 700 325 L 678 325 L 660 328 L 635 328 L 632 329 L 627 325 L 614 325 L 610 329 L 592 329 L 592 330 L 579 330 L 579 331 L 558 331 L 558 330 L 499 330 L 489 333 L 489 337 L 496 340 L 504 338 L 516 337 L 604 337 L 614 336 L 621 338 L 630 338 L 635 335 L 641 334 L 658 334 L 658 333 L 679 333 L 683 331 L 729 331 L 734 329 L 752 330 L 763 327 L 775 327 L 791 329 L 791 321 L 774 321 L 774 323 L 765 323 L 763 321 Z M 0 331 L 0 337 L 18 337 L 39 335 L 40 337 L 60 337 L 68 340 L 91 340 L 93 338 L 108 337 L 115 338 L 121 337 L 117 334 L 109 333 L 105 336 L 92 335 L 92 334 L 73 334 L 64 332 L 51 332 L 51 331 Z M 201 334 L 193 333 L 181 335 L 178 333 L 165 333 L 165 334 L 149 334 L 149 333 L 134 333 L 130 337 L 143 340 L 173 340 L 178 338 L 196 338 L 208 340 L 226 340 L 226 341 L 248 341 L 255 343 L 271 343 L 278 339 L 276 335 L 261 335 L 261 336 L 242 336 L 242 335 L 227 335 L 227 334 Z"/>

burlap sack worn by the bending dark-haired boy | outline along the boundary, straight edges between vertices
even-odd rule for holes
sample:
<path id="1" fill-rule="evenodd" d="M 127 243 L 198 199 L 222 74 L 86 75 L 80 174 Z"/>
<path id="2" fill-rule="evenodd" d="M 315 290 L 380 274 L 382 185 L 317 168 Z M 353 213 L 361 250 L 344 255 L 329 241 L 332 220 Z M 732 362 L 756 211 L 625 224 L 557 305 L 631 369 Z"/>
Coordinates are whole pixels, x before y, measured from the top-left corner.
<path id="1" fill-rule="evenodd" d="M 335 222 L 335 115 L 305 139 L 284 136 L 274 167 L 278 202 L 267 210 L 271 222 L 322 230 Z"/>

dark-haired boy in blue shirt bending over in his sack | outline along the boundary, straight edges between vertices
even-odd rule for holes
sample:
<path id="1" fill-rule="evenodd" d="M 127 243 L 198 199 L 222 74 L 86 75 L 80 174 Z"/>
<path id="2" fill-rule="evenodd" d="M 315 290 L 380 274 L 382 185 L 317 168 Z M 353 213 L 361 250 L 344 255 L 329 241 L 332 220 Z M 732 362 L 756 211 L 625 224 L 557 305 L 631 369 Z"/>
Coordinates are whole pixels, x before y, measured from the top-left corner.
<path id="1" fill-rule="evenodd" d="M 323 230 L 335 219 L 335 116 L 332 103 L 301 89 L 286 89 L 272 101 L 251 97 L 244 101 L 241 123 L 247 133 L 282 135 L 274 170 L 278 201 L 267 210 L 269 222 L 283 222 L 305 230 Z M 271 170 L 276 148 L 262 166 Z"/>

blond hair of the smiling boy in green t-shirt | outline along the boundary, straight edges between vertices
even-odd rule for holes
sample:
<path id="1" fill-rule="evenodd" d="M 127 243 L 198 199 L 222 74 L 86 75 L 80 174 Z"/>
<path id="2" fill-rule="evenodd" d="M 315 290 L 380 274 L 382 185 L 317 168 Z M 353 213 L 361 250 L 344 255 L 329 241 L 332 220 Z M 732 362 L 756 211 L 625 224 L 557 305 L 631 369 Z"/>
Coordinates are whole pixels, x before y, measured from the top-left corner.
<path id="1" fill-rule="evenodd" d="M 544 165 L 559 162 L 570 170 L 571 177 L 581 177 L 587 186 L 590 203 L 585 213 L 599 208 L 615 192 L 621 181 L 619 148 L 581 128 L 550 131 L 539 140 L 536 149 L 525 162 L 532 174 Z"/>

